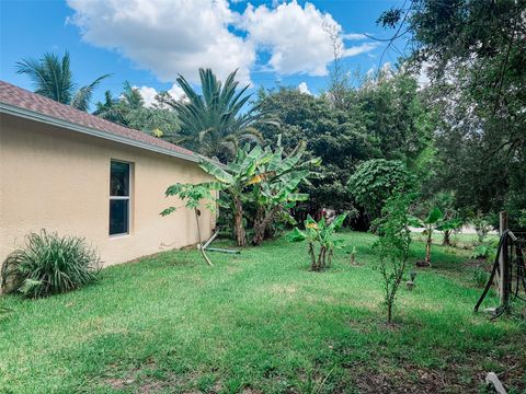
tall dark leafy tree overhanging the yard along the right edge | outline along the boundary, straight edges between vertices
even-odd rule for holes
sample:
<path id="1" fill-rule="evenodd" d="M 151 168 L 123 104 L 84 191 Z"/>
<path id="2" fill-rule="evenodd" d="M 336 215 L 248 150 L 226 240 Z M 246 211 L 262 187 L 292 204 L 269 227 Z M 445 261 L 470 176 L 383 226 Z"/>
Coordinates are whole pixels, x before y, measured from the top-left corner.
<path id="1" fill-rule="evenodd" d="M 379 23 L 405 39 L 431 80 L 444 120 L 442 184 L 457 205 L 488 212 L 526 208 L 526 12 L 524 0 L 411 0 Z M 403 36 L 403 37 L 402 37 Z"/>

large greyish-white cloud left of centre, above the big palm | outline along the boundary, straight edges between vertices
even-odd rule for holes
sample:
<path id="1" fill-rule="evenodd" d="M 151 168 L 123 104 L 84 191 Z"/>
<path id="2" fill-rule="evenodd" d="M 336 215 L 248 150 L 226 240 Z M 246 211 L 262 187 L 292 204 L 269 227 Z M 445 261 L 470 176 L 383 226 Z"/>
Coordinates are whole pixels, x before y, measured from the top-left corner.
<path id="1" fill-rule="evenodd" d="M 196 81 L 199 67 L 225 78 L 239 68 L 249 80 L 249 43 L 228 31 L 236 14 L 227 0 L 68 0 L 82 38 L 115 49 L 161 81 L 178 73 Z"/>

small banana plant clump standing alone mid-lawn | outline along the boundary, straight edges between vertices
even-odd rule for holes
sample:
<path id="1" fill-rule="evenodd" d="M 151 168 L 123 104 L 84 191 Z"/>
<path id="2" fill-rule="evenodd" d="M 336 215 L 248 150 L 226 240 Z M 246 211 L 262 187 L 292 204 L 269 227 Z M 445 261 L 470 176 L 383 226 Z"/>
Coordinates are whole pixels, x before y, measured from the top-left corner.
<path id="1" fill-rule="evenodd" d="M 304 230 L 299 230 L 296 227 L 288 234 L 288 240 L 290 242 L 307 241 L 311 270 L 320 271 L 329 267 L 332 263 L 334 248 L 345 246 L 342 239 L 335 237 L 335 234 L 342 228 L 345 218 L 346 213 L 342 213 L 332 222 L 328 223 L 325 218 L 321 218 L 321 220 L 317 222 L 309 215 L 304 223 Z"/>

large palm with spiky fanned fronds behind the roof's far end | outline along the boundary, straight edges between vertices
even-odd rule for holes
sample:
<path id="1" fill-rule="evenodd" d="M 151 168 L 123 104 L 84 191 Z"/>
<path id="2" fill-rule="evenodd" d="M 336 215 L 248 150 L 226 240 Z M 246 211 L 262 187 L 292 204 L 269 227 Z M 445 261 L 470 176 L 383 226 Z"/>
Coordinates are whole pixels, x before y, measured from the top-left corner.
<path id="1" fill-rule="evenodd" d="M 255 128 L 259 123 L 275 123 L 259 106 L 241 114 L 251 95 L 243 96 L 249 85 L 236 91 L 236 73 L 230 73 L 222 84 L 210 69 L 199 69 L 202 94 L 179 76 L 176 81 L 187 101 L 168 102 L 179 113 L 182 135 L 192 141 L 188 148 L 221 161 L 232 158 L 243 141 L 261 143 L 263 138 Z"/>

